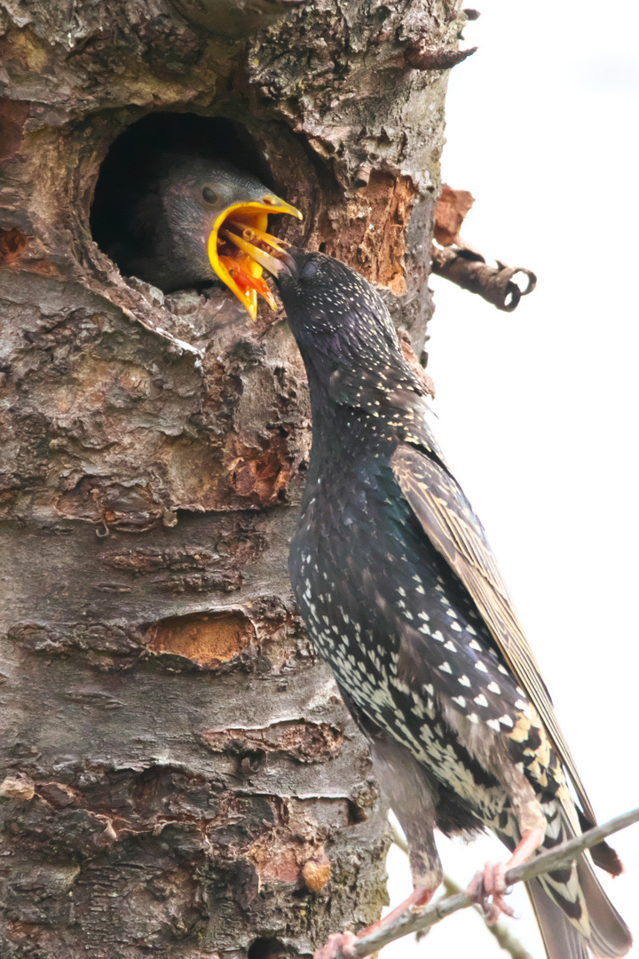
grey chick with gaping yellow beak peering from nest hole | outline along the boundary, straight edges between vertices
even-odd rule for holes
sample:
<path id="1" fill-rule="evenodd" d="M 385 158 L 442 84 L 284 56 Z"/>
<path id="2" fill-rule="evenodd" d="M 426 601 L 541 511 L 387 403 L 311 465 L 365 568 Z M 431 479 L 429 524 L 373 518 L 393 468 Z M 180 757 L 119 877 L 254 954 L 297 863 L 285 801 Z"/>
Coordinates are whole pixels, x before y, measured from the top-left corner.
<path id="1" fill-rule="evenodd" d="M 110 198 L 101 198 L 103 204 Z M 106 251 L 127 275 L 164 292 L 219 278 L 255 319 L 258 293 L 271 307 L 273 294 L 262 267 L 228 242 L 228 229 L 250 231 L 252 239 L 276 244 L 268 216 L 302 214 L 249 173 L 223 160 L 194 154 L 155 157 L 141 190 L 116 198 L 122 227 Z"/>

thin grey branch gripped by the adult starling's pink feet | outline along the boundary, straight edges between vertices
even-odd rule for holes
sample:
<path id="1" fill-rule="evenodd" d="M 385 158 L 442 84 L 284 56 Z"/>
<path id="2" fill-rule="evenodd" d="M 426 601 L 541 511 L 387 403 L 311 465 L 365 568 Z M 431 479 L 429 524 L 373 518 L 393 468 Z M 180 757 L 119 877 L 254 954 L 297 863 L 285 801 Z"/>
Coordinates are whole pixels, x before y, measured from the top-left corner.
<path id="1" fill-rule="evenodd" d="M 603 826 L 595 826 L 594 829 L 587 830 L 582 835 L 561 843 L 550 852 L 536 855 L 534 859 L 529 859 L 522 865 L 509 869 L 505 877 L 506 884 L 512 886 L 515 882 L 525 882 L 528 879 L 540 876 L 542 873 L 569 866 L 584 850 L 596 846 L 606 836 L 624 830 L 636 822 L 639 822 L 639 808 L 625 812 L 621 816 L 615 816 L 614 819 L 610 819 Z M 389 924 L 375 929 L 367 936 L 358 937 L 353 946 L 349 948 L 349 953 L 356 959 L 363 959 L 364 956 L 377 952 L 377 949 L 387 946 L 396 939 L 440 923 L 446 916 L 451 916 L 452 913 L 458 912 L 460 909 L 468 909 L 471 905 L 474 905 L 474 901 L 466 893 L 457 893 L 455 896 L 448 896 L 445 900 L 434 902 L 432 905 L 419 909 L 407 909 Z"/>

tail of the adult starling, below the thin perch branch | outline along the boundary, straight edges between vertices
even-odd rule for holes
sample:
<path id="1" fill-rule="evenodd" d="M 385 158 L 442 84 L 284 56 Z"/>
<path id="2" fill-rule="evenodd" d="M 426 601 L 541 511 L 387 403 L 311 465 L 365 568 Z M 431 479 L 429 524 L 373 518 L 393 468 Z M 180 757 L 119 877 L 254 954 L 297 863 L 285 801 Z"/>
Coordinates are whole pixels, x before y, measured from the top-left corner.
<path id="1" fill-rule="evenodd" d="M 571 839 L 578 831 L 574 808 L 554 801 L 543 806 L 548 820 L 539 852 Z M 608 847 L 606 855 L 614 857 Z M 596 856 L 599 858 L 599 856 Z M 615 861 L 621 864 L 615 858 Z M 632 945 L 627 924 L 605 895 L 595 875 L 592 858 L 584 853 L 570 867 L 526 883 L 548 959 L 602 959 L 626 955 Z"/>

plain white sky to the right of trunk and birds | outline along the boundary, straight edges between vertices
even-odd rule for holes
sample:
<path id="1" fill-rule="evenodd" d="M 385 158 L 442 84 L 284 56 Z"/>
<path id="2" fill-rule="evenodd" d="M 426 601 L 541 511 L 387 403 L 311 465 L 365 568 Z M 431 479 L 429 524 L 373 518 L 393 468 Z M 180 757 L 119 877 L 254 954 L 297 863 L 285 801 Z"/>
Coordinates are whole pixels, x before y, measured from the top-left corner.
<path id="1" fill-rule="evenodd" d="M 463 46 L 479 50 L 450 76 L 443 175 L 475 197 L 465 239 L 538 284 L 504 314 L 434 277 L 428 371 L 439 437 L 605 821 L 639 805 L 639 3 L 477 6 Z M 627 873 L 605 887 L 637 937 L 639 827 L 613 839 Z M 493 857 L 483 840 L 441 846 L 463 884 Z M 411 890 L 399 851 L 389 868 L 395 905 Z M 525 896 L 516 907 L 529 912 Z M 513 931 L 541 959 L 532 916 Z M 383 957 L 469 946 L 503 954 L 457 915 Z"/>

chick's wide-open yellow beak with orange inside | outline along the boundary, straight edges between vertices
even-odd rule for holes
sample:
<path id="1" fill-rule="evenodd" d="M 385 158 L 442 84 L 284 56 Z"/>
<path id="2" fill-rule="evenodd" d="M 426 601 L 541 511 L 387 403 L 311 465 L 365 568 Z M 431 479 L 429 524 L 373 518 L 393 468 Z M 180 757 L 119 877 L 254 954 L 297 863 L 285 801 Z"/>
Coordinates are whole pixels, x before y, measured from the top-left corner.
<path id="1" fill-rule="evenodd" d="M 285 241 L 266 232 L 269 213 L 288 213 L 299 220 L 304 219 L 290 203 L 268 194 L 262 201 L 227 206 L 217 217 L 209 236 L 211 266 L 243 303 L 252 319 L 258 312 L 258 293 L 271 309 L 275 309 L 273 294 L 262 279 L 262 267 L 277 273 L 272 265 L 279 262 L 276 257 L 285 254 Z M 275 256 L 266 252 L 264 246 L 273 250 Z"/>

